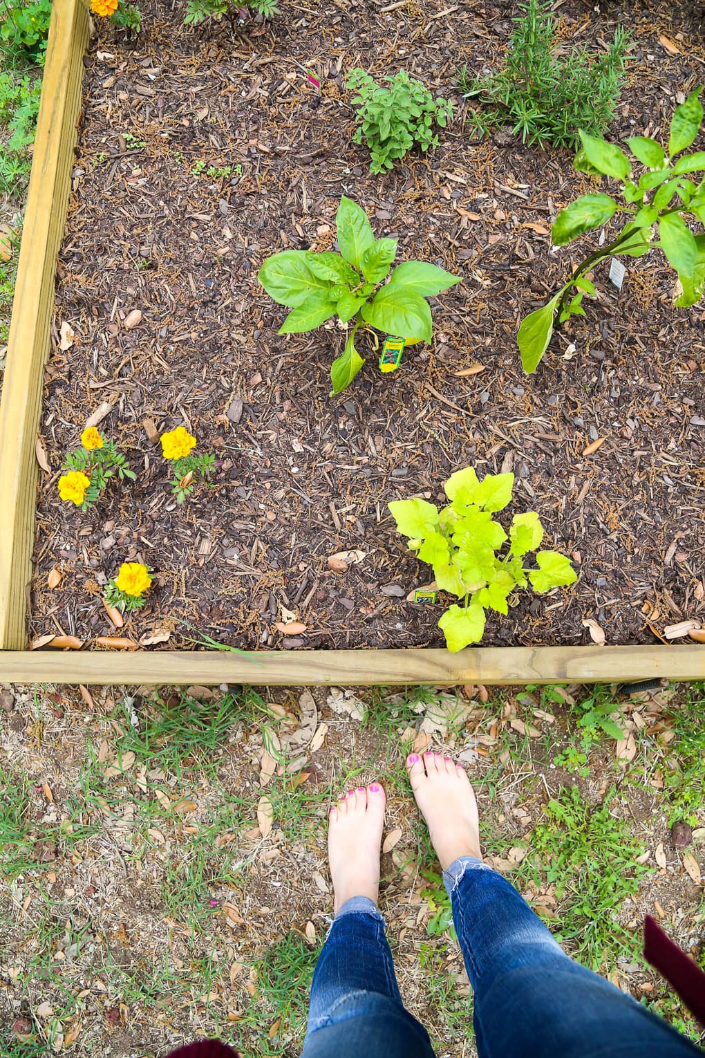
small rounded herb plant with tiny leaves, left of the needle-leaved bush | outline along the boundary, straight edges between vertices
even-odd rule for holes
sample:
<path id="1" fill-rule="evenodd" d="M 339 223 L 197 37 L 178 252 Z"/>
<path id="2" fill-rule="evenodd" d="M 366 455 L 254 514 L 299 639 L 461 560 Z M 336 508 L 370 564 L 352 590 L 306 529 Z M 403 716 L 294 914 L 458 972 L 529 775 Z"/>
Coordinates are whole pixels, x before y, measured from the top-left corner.
<path id="1" fill-rule="evenodd" d="M 422 81 L 400 70 L 395 77 L 385 77 L 389 88 L 379 85 L 359 68 L 351 70 L 346 87 L 357 92 L 353 106 L 357 107 L 355 120 L 359 126 L 353 136 L 355 143 L 370 148 L 370 172 L 391 169 L 394 162 L 404 158 L 414 145 L 423 151 L 438 147 L 433 134 L 435 123 L 445 128 L 452 117 L 452 104 L 434 99 Z"/>

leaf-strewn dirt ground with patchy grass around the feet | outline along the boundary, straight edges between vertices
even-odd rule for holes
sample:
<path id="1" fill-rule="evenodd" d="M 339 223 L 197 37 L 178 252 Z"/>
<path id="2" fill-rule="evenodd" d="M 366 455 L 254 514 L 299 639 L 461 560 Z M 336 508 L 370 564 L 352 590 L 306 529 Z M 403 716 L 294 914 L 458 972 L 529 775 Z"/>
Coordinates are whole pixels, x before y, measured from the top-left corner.
<path id="1" fill-rule="evenodd" d="M 705 688 L 483 696 L 0 692 L 3 1056 L 163 1058 L 219 1035 L 247 1058 L 294 1058 L 332 907 L 328 808 L 377 779 L 402 995 L 439 1058 L 471 1058 L 468 982 L 404 771 L 412 746 L 465 763 L 488 861 L 567 949 L 698 1039 L 639 949 L 650 913 L 705 955 Z M 578 718 L 600 704 L 621 743 L 582 741 Z M 693 752 L 686 811 L 673 777 Z"/>

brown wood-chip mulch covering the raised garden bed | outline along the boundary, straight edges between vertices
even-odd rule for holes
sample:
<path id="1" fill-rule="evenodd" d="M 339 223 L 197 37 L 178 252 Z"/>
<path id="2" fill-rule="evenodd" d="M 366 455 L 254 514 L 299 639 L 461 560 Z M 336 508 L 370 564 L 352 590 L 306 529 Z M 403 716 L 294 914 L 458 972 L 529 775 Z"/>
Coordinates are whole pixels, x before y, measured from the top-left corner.
<path id="1" fill-rule="evenodd" d="M 404 66 L 453 96 L 459 66 L 500 60 L 514 8 L 284 3 L 236 38 L 225 23 L 184 28 L 181 2 L 142 6 L 136 41 L 99 22 L 86 58 L 45 378 L 52 474 L 39 493 L 31 635 L 110 634 L 103 585 L 120 562 L 140 560 L 155 585 L 127 631 L 166 628 L 164 646 L 198 638 L 179 622 L 246 647 L 439 645 L 441 604 L 405 601 L 428 567 L 406 551 L 386 505 L 439 500 L 444 479 L 469 464 L 513 470 L 513 509 L 537 510 L 550 546 L 573 554 L 580 572 L 571 589 L 525 594 L 508 618 L 491 617 L 485 643 L 589 642 L 588 617 L 608 642 L 653 642 L 647 619 L 663 627 L 702 617 L 703 307 L 672 307 L 660 252 L 630 262 L 620 293 L 604 269 L 599 304 L 587 303 L 587 317 L 527 378 L 518 323 L 577 259 L 552 252 L 548 235 L 556 211 L 589 187 L 570 152 L 524 148 L 504 132 L 477 143 L 462 101 L 440 147 L 387 176 L 370 176 L 366 149 L 351 143 L 350 69 L 381 77 Z M 701 10 L 596 13 L 573 0 L 560 15 L 576 43 L 611 39 L 627 22 L 635 44 L 611 134 L 663 139 L 675 93 L 705 79 Z M 680 54 L 664 50 L 661 33 Z M 320 97 L 305 84 L 309 67 Z M 233 176 L 199 175 L 197 161 Z M 398 238 L 397 259 L 433 261 L 464 281 L 434 302 L 431 347 L 409 350 L 391 377 L 370 354 L 330 399 L 342 333 L 278 338 L 285 310 L 256 274 L 278 250 L 330 249 L 341 194 L 367 209 L 375 234 Z M 135 308 L 143 320 L 128 330 Z M 67 352 L 63 321 L 76 333 Z M 481 373 L 458 376 L 475 362 Z M 100 428 L 138 480 L 81 514 L 58 500 L 56 480 L 101 402 L 111 412 Z M 212 486 L 181 507 L 147 420 L 159 432 L 183 423 L 198 451 L 217 455 Z M 607 439 L 583 457 L 597 437 Z M 328 557 L 347 549 L 365 559 L 332 572 Z M 54 566 L 61 582 L 50 591 Z M 273 627 L 282 605 L 305 636 L 282 643 Z"/>

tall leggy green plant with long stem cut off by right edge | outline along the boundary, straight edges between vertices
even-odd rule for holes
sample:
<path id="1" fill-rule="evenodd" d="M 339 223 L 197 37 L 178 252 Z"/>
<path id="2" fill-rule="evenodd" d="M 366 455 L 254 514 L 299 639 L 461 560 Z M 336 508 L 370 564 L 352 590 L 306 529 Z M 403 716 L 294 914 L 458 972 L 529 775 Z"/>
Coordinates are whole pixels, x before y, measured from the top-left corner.
<path id="1" fill-rule="evenodd" d="M 693 235 L 684 219 L 691 215 L 705 223 L 705 179 L 699 184 L 688 174 L 705 170 L 705 151 L 684 154 L 694 141 L 703 122 L 700 103 L 702 86 L 675 108 L 668 138 L 668 154 L 655 140 L 631 136 L 627 140 L 631 154 L 646 166 L 635 182 L 627 154 L 606 140 L 580 132 L 582 149 L 574 165 L 581 172 L 612 177 L 621 183 L 620 205 L 604 193 L 582 195 L 556 217 L 551 240 L 555 247 L 572 242 L 585 232 L 607 224 L 616 213 L 627 215 L 619 235 L 594 253 L 589 254 L 573 271 L 570 279 L 551 300 L 525 316 L 518 334 L 521 362 L 526 372 L 535 371 L 549 347 L 554 317 L 558 324 L 573 315 L 585 315 L 585 294 L 595 297 L 595 287 L 588 273 L 608 257 L 625 254 L 642 257 L 660 248 L 678 272 L 682 292 L 674 298 L 680 308 L 694 305 L 705 290 L 705 234 Z M 675 156 L 681 154 L 678 161 Z M 657 239 L 652 241 L 654 225 Z"/>

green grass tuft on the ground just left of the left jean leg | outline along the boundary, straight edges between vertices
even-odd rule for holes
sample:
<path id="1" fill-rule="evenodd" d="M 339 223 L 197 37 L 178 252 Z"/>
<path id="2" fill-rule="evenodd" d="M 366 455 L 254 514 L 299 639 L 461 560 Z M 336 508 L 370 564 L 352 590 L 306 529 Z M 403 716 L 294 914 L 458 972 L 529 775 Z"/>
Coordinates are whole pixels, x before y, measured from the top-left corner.
<path id="1" fill-rule="evenodd" d="M 247 1020 L 260 1030 L 262 1058 L 300 1054 L 309 1010 L 309 992 L 320 947 L 295 931 L 273 944 L 256 964 L 256 992 Z"/>

